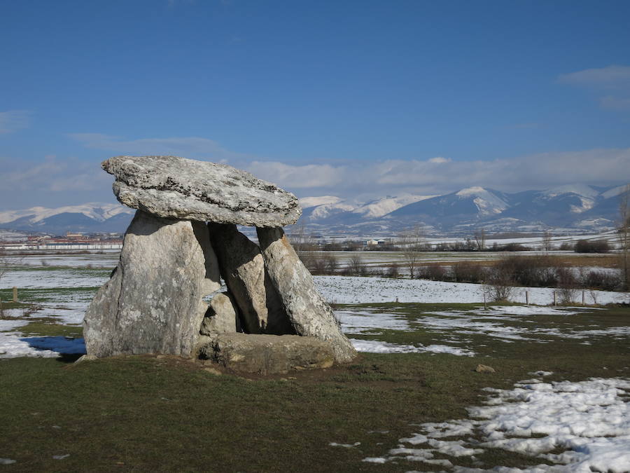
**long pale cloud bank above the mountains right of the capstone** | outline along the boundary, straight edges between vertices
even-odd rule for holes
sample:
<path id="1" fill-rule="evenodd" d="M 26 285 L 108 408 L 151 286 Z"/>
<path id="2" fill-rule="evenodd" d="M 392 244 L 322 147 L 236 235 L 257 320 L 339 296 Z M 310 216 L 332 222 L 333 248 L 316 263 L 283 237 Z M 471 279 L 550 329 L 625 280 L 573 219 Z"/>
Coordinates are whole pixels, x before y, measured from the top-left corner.
<path id="1" fill-rule="evenodd" d="M 541 153 L 495 160 L 383 160 L 344 165 L 256 161 L 248 171 L 302 196 L 440 194 L 470 186 L 515 192 L 563 184 L 630 181 L 630 149 Z M 307 190 L 308 189 L 308 190 Z"/>

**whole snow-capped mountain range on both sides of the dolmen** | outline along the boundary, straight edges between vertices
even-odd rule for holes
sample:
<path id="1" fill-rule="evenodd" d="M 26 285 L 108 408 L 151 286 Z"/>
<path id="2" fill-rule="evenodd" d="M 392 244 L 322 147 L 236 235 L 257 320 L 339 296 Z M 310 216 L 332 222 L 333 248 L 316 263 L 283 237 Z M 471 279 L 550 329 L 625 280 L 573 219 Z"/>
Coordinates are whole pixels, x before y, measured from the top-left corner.
<path id="1" fill-rule="evenodd" d="M 443 196 L 405 194 L 365 203 L 316 196 L 300 199 L 304 212 L 298 225 L 310 233 L 361 237 L 398 235 L 416 226 L 428 235 L 471 235 L 478 228 L 491 233 L 598 233 L 618 225 L 619 198 L 625 192 L 626 186 L 575 184 L 519 193 L 469 187 Z M 116 203 L 31 207 L 0 212 L 0 228 L 55 235 L 123 233 L 134 212 Z"/>

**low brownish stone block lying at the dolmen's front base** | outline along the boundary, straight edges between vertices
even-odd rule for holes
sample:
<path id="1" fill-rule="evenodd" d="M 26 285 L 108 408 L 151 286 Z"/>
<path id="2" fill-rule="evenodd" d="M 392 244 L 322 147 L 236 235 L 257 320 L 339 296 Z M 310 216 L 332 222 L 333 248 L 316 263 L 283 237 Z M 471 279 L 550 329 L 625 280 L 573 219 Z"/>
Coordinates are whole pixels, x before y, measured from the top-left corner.
<path id="1" fill-rule="evenodd" d="M 296 335 L 221 334 L 202 346 L 202 358 L 244 373 L 286 373 L 332 366 L 332 347 L 317 338 Z"/>

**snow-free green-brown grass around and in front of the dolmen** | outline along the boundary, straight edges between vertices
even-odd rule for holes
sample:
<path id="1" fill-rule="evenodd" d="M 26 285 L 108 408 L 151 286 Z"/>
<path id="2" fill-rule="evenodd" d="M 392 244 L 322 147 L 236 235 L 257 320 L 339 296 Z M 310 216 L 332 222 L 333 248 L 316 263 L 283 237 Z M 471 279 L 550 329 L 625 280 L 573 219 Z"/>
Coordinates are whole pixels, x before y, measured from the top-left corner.
<path id="1" fill-rule="evenodd" d="M 552 371 L 552 381 L 630 378 L 628 336 L 615 334 L 627 327 L 629 308 L 506 315 L 503 320 L 483 313 L 477 304 L 338 309 L 393 313 L 407 322 L 405 329 L 367 329 L 352 338 L 412 345 L 448 340 L 477 355 L 364 353 L 334 369 L 267 377 L 217 375 L 204 362 L 176 357 L 116 357 L 79 364 L 71 363 L 74 357 L 1 359 L 0 458 L 15 460 L 3 469 L 439 471 L 443 467 L 404 458 L 383 465 L 363 459 L 396 448 L 399 439 L 416 432 L 414 424 L 465 418 L 467 406 L 482 402 L 482 388 L 509 389 L 531 378 L 533 371 Z M 467 317 L 502 330 L 512 327 L 521 338 L 435 324 Z M 80 335 L 76 326 L 52 322 L 34 320 L 20 330 Z M 575 338 L 595 329 L 599 332 Z M 496 373 L 475 372 L 479 363 Z M 545 462 L 488 448 L 475 457 L 451 460 L 483 468 Z"/>

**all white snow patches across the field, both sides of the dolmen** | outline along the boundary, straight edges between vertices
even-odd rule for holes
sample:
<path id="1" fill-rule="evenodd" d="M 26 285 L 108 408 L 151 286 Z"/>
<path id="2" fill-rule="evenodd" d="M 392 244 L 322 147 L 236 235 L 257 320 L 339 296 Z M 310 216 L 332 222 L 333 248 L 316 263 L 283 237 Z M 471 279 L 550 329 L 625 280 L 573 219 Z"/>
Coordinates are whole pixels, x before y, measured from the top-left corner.
<path id="1" fill-rule="evenodd" d="M 19 287 L 36 303 L 38 310 L 26 317 L 25 309 L 6 311 L 6 320 L 0 320 L 0 358 L 57 357 L 59 353 L 85 352 L 80 338 L 24 336 L 20 332 L 29 322 L 42 318 L 57 320 L 59 324 L 80 324 L 97 288 L 108 280 L 116 256 L 97 255 L 99 264 L 95 264 L 92 255 L 79 256 L 77 259 L 34 256 L 3 277 L 3 287 Z M 41 266 L 42 261 L 45 266 Z M 335 313 L 344 333 L 361 352 L 423 353 L 467 359 L 490 356 L 484 355 L 480 337 L 506 349 L 514 343 L 535 347 L 563 340 L 583 345 L 607 340 L 630 341 L 630 327 L 626 325 L 599 327 L 571 323 L 572 317 L 593 310 L 549 306 L 553 289 L 519 288 L 514 292 L 514 301 L 524 303 L 527 291 L 533 305 L 489 304 L 484 310 L 480 285 L 345 276 L 317 276 L 315 282 L 325 299 L 346 305 L 337 308 Z M 587 295 L 590 297 L 589 293 Z M 629 303 L 630 294 L 597 292 L 596 299 L 604 304 Z M 587 303 L 590 302 L 591 299 L 587 299 Z M 365 303 L 373 305 L 358 305 Z M 382 306 L 383 303 L 387 305 Z M 412 313 L 408 303 L 478 306 L 449 310 L 432 307 L 424 311 L 414 309 Z M 419 330 L 427 337 L 422 343 L 393 343 L 387 339 L 387 334 L 415 334 Z M 497 471 L 628 471 L 630 379 L 545 382 L 543 377 L 551 374 L 532 373 L 531 379 L 516 383 L 509 390 L 486 388 L 486 401 L 470 406 L 468 418 L 410 425 L 409 436 L 400 438 L 397 448 L 389 448 L 380 456 L 369 456 L 363 461 L 391 464 L 405 458 L 445 471 L 477 472 L 484 470 L 458 467 L 458 458 L 466 456 L 474 460 L 475 455 L 487 448 L 500 448 L 528 455 L 532 462 L 526 469 Z M 356 448 L 358 444 L 331 442 L 330 446 Z M 538 464 L 536 460 L 547 460 L 554 466 Z"/>

